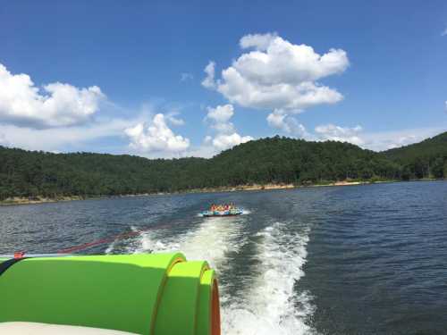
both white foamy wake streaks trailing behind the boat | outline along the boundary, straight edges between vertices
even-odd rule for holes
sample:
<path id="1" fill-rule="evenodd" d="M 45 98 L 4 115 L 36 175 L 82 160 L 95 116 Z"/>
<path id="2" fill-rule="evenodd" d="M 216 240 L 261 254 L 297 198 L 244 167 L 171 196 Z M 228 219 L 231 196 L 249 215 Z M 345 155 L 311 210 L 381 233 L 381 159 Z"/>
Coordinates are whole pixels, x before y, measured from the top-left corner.
<path id="1" fill-rule="evenodd" d="M 181 251 L 188 260 L 206 259 L 222 278 L 234 270 L 241 248 L 254 243 L 249 246 L 254 251 L 244 255 L 256 264 L 244 279 L 247 282 L 242 286 L 247 289 L 233 296 L 232 289 L 220 282 L 223 334 L 314 334 L 308 326 L 314 312 L 311 296 L 306 292 L 297 295 L 295 290 L 304 275 L 308 230 L 291 233 L 286 223 L 276 222 L 249 237 L 245 221 L 241 216 L 207 218 L 180 236 L 148 230 L 134 239 L 127 252 Z"/>

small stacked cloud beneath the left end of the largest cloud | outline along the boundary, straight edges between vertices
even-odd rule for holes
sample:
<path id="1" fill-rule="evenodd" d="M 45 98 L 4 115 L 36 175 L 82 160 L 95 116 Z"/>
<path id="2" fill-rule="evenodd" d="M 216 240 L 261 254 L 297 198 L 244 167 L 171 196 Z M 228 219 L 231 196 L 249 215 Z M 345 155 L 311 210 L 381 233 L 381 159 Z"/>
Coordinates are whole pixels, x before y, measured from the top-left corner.
<path id="1" fill-rule="evenodd" d="M 205 144 L 211 144 L 217 150 L 225 150 L 248 142 L 253 138 L 250 136 L 240 136 L 230 121 L 234 115 L 232 105 L 217 105 L 215 108 L 208 107 L 206 121 L 211 123 L 211 128 L 215 130 L 215 137 L 207 136 Z"/>

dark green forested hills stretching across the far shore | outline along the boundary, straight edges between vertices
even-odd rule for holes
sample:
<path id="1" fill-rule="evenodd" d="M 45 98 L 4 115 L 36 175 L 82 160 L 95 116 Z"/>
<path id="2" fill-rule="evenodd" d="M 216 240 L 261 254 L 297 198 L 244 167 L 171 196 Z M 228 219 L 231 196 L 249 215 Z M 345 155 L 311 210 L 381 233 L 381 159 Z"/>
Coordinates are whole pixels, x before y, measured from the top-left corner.
<path id="1" fill-rule="evenodd" d="M 445 138 L 447 133 L 375 153 L 349 143 L 274 137 L 241 144 L 210 159 L 170 160 L 0 147 L 0 200 L 174 192 L 253 183 L 443 178 L 447 177 Z"/>

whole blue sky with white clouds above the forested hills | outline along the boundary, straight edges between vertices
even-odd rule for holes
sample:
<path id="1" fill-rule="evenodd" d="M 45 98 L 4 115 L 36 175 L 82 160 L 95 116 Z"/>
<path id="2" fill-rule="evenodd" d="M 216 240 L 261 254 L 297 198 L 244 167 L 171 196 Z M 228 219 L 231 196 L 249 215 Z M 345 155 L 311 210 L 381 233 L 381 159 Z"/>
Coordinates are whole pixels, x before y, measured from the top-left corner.
<path id="1" fill-rule="evenodd" d="M 4 1 L 0 145 L 210 157 L 447 130 L 445 1 Z"/>

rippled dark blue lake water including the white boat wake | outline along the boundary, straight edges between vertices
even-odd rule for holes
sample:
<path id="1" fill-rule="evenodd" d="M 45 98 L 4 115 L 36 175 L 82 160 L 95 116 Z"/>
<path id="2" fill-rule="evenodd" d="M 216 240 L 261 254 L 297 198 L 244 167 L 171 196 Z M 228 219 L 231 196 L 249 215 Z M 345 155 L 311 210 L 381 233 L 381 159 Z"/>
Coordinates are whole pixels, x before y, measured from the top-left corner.
<path id="1" fill-rule="evenodd" d="M 200 218 L 210 203 L 249 214 Z M 0 254 L 181 250 L 220 276 L 223 334 L 447 333 L 447 182 L 0 207 Z"/>

